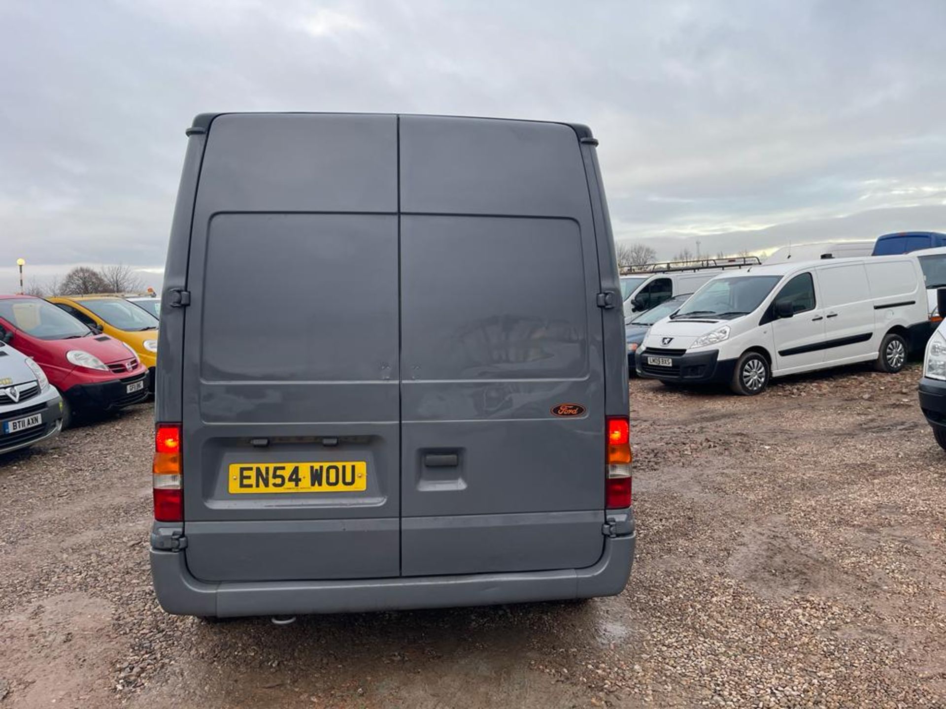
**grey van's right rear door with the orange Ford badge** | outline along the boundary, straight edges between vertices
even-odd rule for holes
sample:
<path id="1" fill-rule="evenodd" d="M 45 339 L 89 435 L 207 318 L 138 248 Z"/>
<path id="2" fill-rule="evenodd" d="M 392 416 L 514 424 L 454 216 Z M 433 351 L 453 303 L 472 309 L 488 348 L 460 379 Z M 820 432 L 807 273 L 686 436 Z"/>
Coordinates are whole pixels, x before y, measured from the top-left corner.
<path id="1" fill-rule="evenodd" d="M 582 149 L 563 125 L 401 117 L 405 576 L 601 556 L 601 281 Z"/>

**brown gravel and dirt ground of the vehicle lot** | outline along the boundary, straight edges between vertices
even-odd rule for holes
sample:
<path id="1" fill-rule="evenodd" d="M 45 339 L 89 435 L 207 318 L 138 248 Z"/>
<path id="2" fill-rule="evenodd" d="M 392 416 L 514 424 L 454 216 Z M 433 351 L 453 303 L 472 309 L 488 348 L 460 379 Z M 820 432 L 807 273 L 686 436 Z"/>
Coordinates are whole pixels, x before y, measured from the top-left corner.
<path id="1" fill-rule="evenodd" d="M 639 557 L 587 603 L 207 625 L 149 583 L 140 406 L 0 459 L 0 709 L 946 706 L 919 367 L 631 382 Z"/>

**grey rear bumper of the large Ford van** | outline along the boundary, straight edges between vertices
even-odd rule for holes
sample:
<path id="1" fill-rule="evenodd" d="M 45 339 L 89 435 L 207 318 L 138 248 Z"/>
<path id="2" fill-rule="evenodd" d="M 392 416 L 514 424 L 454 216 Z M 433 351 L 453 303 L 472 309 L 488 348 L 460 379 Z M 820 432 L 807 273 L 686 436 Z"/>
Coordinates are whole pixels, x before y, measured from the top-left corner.
<path id="1" fill-rule="evenodd" d="M 151 549 L 151 576 L 167 613 L 234 617 L 362 613 L 486 606 L 616 596 L 627 583 L 637 534 L 609 537 L 584 569 L 393 579 L 208 583 L 195 579 L 184 554 Z"/>

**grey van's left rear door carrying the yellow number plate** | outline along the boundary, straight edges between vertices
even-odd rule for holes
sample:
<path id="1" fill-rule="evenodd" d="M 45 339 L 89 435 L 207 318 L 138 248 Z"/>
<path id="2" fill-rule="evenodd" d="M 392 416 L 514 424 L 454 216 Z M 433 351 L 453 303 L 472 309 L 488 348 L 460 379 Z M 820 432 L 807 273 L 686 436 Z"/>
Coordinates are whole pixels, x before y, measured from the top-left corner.
<path id="1" fill-rule="evenodd" d="M 198 579 L 399 573 L 396 126 L 211 125 L 177 351 Z"/>

